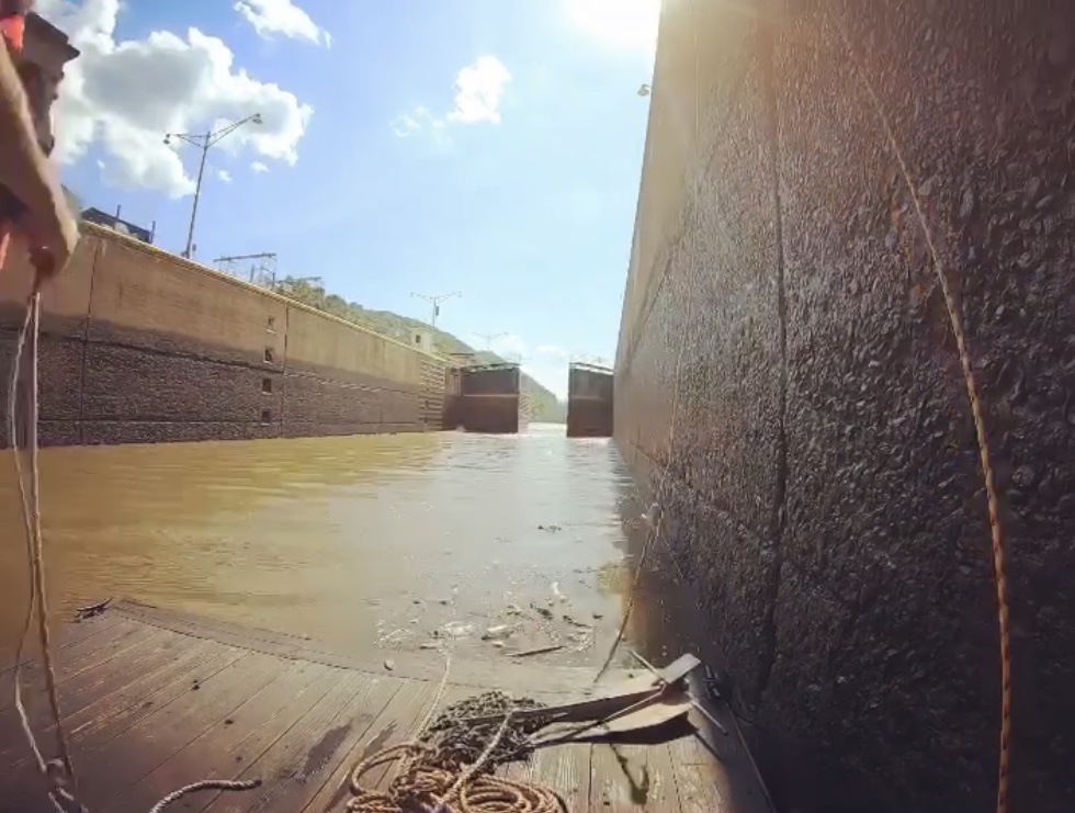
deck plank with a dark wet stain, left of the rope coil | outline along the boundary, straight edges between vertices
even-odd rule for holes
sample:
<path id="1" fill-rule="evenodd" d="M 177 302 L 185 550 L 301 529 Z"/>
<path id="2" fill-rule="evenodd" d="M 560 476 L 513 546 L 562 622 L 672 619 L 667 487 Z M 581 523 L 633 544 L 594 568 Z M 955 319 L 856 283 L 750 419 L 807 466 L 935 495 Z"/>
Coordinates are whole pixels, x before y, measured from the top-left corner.
<path id="1" fill-rule="evenodd" d="M 391 702 L 399 688 L 395 678 L 349 674 L 286 734 L 239 776 L 264 784 L 251 793 L 217 797 L 213 813 L 302 810 L 326 778 Z"/>

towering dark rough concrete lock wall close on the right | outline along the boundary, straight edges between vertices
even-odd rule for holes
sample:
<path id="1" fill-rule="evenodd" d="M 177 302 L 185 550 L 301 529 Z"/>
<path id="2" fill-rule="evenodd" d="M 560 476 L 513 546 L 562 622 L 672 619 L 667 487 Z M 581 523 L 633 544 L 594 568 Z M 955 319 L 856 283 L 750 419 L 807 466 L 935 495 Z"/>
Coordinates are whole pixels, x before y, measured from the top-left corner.
<path id="1" fill-rule="evenodd" d="M 1075 809 L 1075 5 L 664 5 L 615 438 L 698 647 L 785 809 L 995 803 L 991 532 L 939 270 L 1009 551 L 1009 809 Z"/>

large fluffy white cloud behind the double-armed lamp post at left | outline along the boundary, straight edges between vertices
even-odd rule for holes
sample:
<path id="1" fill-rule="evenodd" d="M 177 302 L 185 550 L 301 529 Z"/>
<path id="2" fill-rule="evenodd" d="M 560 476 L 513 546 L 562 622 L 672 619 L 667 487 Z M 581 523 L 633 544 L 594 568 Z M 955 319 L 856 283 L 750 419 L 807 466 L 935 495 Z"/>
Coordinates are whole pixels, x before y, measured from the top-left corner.
<path id="1" fill-rule="evenodd" d="M 252 113 L 263 123 L 240 127 L 217 149 L 298 159 L 313 108 L 237 69 L 222 39 L 190 29 L 185 38 L 155 31 L 117 41 L 120 0 L 38 0 L 37 11 L 82 52 L 67 66 L 56 104 L 60 161 L 75 163 L 99 145 L 108 182 L 181 197 L 194 190 L 183 167 L 186 145 L 173 138 L 166 146 L 165 133 L 206 132 Z"/>

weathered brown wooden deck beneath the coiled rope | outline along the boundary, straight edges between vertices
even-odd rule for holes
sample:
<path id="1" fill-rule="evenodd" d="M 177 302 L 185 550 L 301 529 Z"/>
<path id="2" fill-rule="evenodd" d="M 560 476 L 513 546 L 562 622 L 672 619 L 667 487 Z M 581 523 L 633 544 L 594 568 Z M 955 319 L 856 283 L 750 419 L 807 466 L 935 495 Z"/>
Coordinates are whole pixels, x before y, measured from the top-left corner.
<path id="1" fill-rule="evenodd" d="M 206 778 L 262 780 L 257 790 L 185 798 L 178 810 L 321 813 L 342 810 L 346 776 L 365 755 L 407 739 L 444 670 L 439 653 L 392 653 L 392 669 L 309 641 L 133 603 L 69 625 L 56 644 L 61 712 L 79 797 L 92 813 L 145 813 Z M 0 811 L 50 810 L 0 671 Z M 41 669 L 24 669 L 41 731 Z M 539 658 L 456 659 L 442 703 L 488 688 L 544 700 L 580 697 L 592 671 Z M 42 737 L 52 755 L 52 735 Z M 508 766 L 557 790 L 575 813 L 766 813 L 733 737 L 658 745 L 572 744 Z"/>

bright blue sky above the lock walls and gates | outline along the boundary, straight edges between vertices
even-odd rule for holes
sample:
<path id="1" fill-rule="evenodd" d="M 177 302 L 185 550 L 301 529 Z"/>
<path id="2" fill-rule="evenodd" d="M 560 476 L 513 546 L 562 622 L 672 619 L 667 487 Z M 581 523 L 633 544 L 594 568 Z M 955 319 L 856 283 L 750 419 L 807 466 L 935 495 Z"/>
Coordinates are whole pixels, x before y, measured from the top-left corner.
<path id="1" fill-rule="evenodd" d="M 270 127 L 291 126 L 275 147 L 259 153 L 250 138 L 260 134 L 237 134 L 211 151 L 197 258 L 273 251 L 281 275 L 319 275 L 348 300 L 419 317 L 428 306 L 412 292 L 459 291 L 442 305 L 439 326 L 478 347 L 477 334 L 509 334 L 496 348 L 521 353 L 527 369 L 561 394 L 567 355 L 611 360 L 648 114 L 637 90 L 650 80 L 654 0 L 294 2 L 305 22 L 290 18 L 297 23 L 290 32 L 259 32 L 238 8 L 242 2 L 219 0 L 128 0 L 117 13 L 115 0 L 84 0 L 97 4 L 100 19 L 114 19 L 103 45 L 93 44 L 90 23 L 70 23 L 87 77 L 76 77 L 71 92 L 92 101 L 86 108 L 109 103 L 106 84 L 123 83 L 128 101 L 139 87 L 181 95 L 183 88 L 169 79 L 179 68 L 156 81 L 157 93 L 148 79 L 139 86 L 128 76 L 145 69 L 123 67 L 120 58 L 139 43 L 143 55 L 165 54 L 171 43 L 178 59 L 177 49 L 194 42 L 192 27 L 205 48 L 218 39 L 230 50 L 230 71 L 240 77 L 234 87 L 244 87 L 246 71 L 293 94 L 291 124 L 282 123 L 283 113 L 272 115 Z M 288 5 L 250 2 L 267 14 L 290 13 Z M 68 3 L 64 11 L 73 9 Z M 98 25 L 98 34 L 105 27 Z M 121 79 L 109 82 L 105 65 Z M 94 79 L 94 70 L 105 78 Z M 142 142 L 124 144 L 154 139 L 159 150 L 157 134 L 177 121 L 201 132 L 239 116 L 238 92 L 228 91 L 230 106 L 205 108 L 215 121 L 199 120 L 193 102 L 190 115 L 174 118 L 183 103 L 177 97 L 160 105 L 157 131 L 143 112 L 148 108 L 132 102 L 134 112 L 125 113 L 117 98 L 109 120 L 115 126 L 98 124 L 93 132 L 117 133 L 127 115 L 122 126 L 140 127 Z M 78 102 L 68 103 L 72 134 Z M 259 112 L 257 104 L 250 102 L 250 113 Z M 234 112 L 217 116 L 219 110 Z M 156 221 L 158 245 L 182 250 L 191 196 L 159 173 L 154 181 L 148 146 L 136 160 L 135 146 L 111 144 L 84 135 L 67 159 L 66 182 L 83 205 L 122 205 L 124 219 Z M 178 155 L 189 184 L 196 150 Z M 121 165 L 124 171 L 115 169 Z"/>

